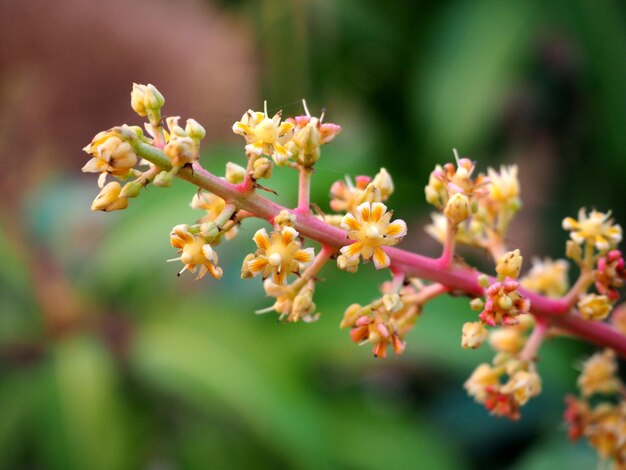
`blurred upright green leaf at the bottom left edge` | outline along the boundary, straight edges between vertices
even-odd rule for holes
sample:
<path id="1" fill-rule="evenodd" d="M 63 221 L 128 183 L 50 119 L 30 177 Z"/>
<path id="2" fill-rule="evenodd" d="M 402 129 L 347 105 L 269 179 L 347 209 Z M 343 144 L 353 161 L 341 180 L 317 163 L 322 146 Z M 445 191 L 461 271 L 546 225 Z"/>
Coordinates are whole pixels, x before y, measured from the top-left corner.
<path id="1" fill-rule="evenodd" d="M 59 469 L 132 467 L 115 364 L 89 336 L 55 345 L 41 414 L 45 461 Z"/>

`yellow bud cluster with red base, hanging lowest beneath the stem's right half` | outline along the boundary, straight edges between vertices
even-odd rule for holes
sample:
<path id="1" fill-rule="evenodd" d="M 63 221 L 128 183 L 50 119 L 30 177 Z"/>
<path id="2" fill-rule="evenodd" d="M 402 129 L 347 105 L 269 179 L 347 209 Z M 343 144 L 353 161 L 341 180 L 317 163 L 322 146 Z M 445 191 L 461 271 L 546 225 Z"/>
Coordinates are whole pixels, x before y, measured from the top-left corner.
<path id="1" fill-rule="evenodd" d="M 541 378 L 533 362 L 500 353 L 492 364 L 480 364 L 464 387 L 491 414 L 518 420 L 520 407 L 541 393 Z"/>

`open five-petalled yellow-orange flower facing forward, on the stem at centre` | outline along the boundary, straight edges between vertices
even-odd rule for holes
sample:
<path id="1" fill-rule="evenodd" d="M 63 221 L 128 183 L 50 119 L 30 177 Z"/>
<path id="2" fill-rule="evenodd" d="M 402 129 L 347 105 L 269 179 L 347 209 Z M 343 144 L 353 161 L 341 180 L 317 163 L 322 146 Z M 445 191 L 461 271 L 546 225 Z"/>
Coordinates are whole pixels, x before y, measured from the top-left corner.
<path id="1" fill-rule="evenodd" d="M 406 223 L 398 219 L 393 222 L 392 211 L 382 202 L 364 202 L 354 213 L 348 213 L 341 222 L 341 228 L 348 231 L 348 237 L 355 240 L 341 249 L 349 259 L 359 256 L 364 260 L 374 260 L 376 269 L 386 268 L 390 264 L 389 256 L 383 246 L 396 245 L 406 235 Z"/>

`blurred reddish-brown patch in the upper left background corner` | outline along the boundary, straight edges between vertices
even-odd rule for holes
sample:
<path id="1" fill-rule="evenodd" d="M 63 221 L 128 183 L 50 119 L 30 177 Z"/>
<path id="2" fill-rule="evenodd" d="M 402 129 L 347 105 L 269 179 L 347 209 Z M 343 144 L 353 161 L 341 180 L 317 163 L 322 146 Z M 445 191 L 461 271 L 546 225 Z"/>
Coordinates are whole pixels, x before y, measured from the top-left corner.
<path id="1" fill-rule="evenodd" d="M 98 131 L 138 124 L 133 82 L 223 138 L 254 102 L 253 46 L 242 20 L 199 0 L 0 0 L 0 208 L 51 169 L 77 175 Z"/>

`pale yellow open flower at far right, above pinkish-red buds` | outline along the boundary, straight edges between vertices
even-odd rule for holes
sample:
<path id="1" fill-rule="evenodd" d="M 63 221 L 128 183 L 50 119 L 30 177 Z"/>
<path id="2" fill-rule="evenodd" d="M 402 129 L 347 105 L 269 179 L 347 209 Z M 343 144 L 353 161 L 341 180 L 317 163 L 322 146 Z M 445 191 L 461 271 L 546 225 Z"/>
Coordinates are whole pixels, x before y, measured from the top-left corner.
<path id="1" fill-rule="evenodd" d="M 570 238 L 579 245 L 589 243 L 599 251 L 615 248 L 622 240 L 622 228 L 613 224 L 611 212 L 606 214 L 592 210 L 587 215 L 585 208 L 578 211 L 578 220 L 563 219 L 563 228 L 570 231 Z"/>

